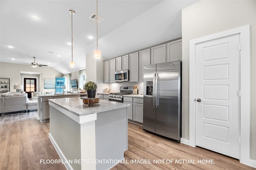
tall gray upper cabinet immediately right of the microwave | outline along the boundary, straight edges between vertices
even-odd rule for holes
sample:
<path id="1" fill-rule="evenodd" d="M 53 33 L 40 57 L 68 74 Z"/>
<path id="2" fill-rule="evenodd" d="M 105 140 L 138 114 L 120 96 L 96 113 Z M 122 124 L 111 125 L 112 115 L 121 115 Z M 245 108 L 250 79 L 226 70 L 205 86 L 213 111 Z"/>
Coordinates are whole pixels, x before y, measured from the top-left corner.
<path id="1" fill-rule="evenodd" d="M 129 74 L 130 74 L 130 82 L 138 82 L 139 81 L 139 53 L 131 53 L 129 54 Z"/>

